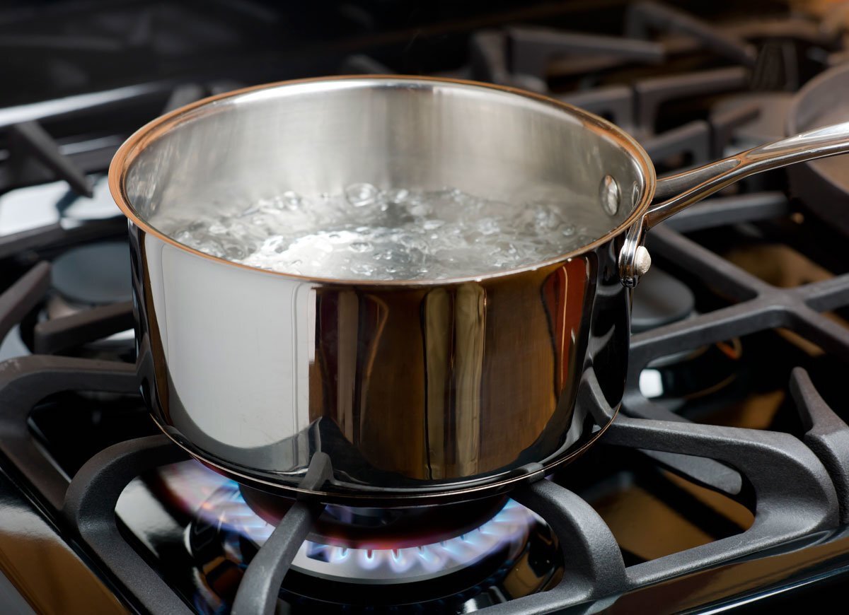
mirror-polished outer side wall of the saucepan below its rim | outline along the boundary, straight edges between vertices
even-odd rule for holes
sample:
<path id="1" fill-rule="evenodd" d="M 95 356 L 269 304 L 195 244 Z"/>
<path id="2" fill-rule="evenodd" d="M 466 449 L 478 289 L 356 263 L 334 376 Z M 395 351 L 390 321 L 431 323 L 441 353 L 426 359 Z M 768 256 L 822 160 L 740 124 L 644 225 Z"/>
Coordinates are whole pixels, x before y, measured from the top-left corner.
<path id="1" fill-rule="evenodd" d="M 627 290 L 613 242 L 521 276 L 387 288 L 228 266 L 136 226 L 132 237 L 145 398 L 166 433 L 237 478 L 297 489 L 323 451 L 326 495 L 506 487 L 610 421 L 575 409 L 585 372 L 621 400 Z"/>

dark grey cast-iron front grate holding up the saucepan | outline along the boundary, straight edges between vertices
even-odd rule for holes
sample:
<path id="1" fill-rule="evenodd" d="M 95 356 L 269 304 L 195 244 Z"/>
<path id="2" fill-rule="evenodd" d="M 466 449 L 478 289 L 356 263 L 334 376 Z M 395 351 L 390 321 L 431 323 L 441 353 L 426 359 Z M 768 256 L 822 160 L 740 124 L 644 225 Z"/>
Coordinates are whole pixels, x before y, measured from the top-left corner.
<path id="1" fill-rule="evenodd" d="M 752 221 L 784 215 L 787 210 L 786 202 L 778 197 L 728 200 L 707 202 L 681 217 L 678 224 L 694 230 L 728 221 L 725 211 L 733 212 L 732 221 Z M 816 541 L 818 532 L 846 523 L 849 428 L 824 403 L 806 372 L 796 370 L 790 385 L 808 428 L 804 443 L 789 433 L 686 422 L 645 400 L 634 383 L 642 366 L 673 349 L 776 326 L 798 327 L 829 352 L 846 358 L 849 333 L 817 310 L 849 305 L 849 275 L 797 288 L 773 288 L 671 228 L 658 230 L 655 252 L 682 260 L 693 276 L 723 285 L 722 289 L 740 302 L 634 336 L 631 386 L 624 408 L 631 416 L 617 418 L 603 445 L 647 451 L 673 472 L 739 500 L 755 513 L 755 522 L 744 534 L 626 567 L 613 534 L 591 506 L 551 481 L 527 484 L 514 498 L 540 514 L 558 534 L 565 553 L 564 577 L 553 590 L 489 607 L 492 612 L 547 612 L 601 600 L 791 540 L 811 537 Z M 39 264 L 0 295 L 0 333 L 7 333 L 37 303 L 48 286 L 48 275 L 49 265 Z M 98 310 L 93 312 L 98 314 Z M 126 321 L 107 317 L 98 322 L 93 317 L 86 327 L 68 327 L 65 335 L 68 344 L 83 344 L 126 325 Z M 165 436 L 132 439 L 93 456 L 69 484 L 44 455 L 27 423 L 39 400 L 63 390 L 132 393 L 138 390 L 136 368 L 118 361 L 57 355 L 4 362 L 0 368 L 0 450 L 140 606 L 152 612 L 185 611 L 183 601 L 123 540 L 115 523 L 115 504 L 132 478 L 181 461 L 185 454 Z M 612 409 L 604 407 L 603 400 L 590 372 L 582 383 L 579 403 L 594 412 L 610 413 Z M 317 457 L 317 465 L 305 480 L 320 484 L 329 467 L 318 461 Z M 293 507 L 248 567 L 234 612 L 273 612 L 279 584 L 318 512 L 306 502 Z"/>

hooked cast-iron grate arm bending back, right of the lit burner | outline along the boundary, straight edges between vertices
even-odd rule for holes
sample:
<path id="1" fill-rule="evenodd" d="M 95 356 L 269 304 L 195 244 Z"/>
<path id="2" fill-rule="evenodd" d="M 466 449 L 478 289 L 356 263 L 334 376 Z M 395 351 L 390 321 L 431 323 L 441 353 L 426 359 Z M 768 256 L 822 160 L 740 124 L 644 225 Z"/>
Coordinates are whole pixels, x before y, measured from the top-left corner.
<path id="1" fill-rule="evenodd" d="M 633 587 L 804 539 L 840 523 L 828 472 L 789 433 L 619 417 L 604 442 L 728 463 L 745 476 L 744 486 L 751 487 L 737 499 L 745 503 L 753 497 L 749 506 L 756 508 L 755 523 L 742 534 L 628 567 Z"/>

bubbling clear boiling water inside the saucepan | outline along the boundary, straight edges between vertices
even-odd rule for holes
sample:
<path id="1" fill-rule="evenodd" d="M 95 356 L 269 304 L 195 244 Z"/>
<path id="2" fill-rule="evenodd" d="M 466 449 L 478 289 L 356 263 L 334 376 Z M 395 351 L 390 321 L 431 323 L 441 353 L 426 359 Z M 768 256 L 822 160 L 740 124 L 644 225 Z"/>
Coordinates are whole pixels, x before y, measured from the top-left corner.
<path id="1" fill-rule="evenodd" d="M 306 198 L 284 192 L 215 217 L 155 224 L 191 248 L 262 269 L 338 279 L 438 280 L 563 254 L 610 230 L 599 227 L 599 217 L 575 203 L 509 204 L 451 188 L 381 191 L 359 183 L 340 194 Z M 593 219 L 595 228 L 588 226 Z"/>

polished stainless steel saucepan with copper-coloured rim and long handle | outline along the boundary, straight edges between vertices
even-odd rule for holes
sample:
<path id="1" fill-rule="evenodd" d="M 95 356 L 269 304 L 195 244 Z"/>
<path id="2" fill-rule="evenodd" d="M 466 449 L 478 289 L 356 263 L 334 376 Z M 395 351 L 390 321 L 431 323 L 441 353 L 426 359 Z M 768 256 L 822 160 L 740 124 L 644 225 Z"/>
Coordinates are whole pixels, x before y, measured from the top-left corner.
<path id="1" fill-rule="evenodd" d="M 356 506 L 498 494 L 616 415 L 649 228 L 743 176 L 847 150 L 841 124 L 657 181 L 616 126 L 507 87 L 357 76 L 207 98 L 144 126 L 110 167 L 143 395 L 177 444 L 261 489 Z M 513 271 L 372 282 L 241 266 L 156 227 L 355 182 L 532 192 L 607 232 Z M 576 403 L 582 390 L 601 403 Z M 319 452 L 326 480 L 305 482 Z"/>

